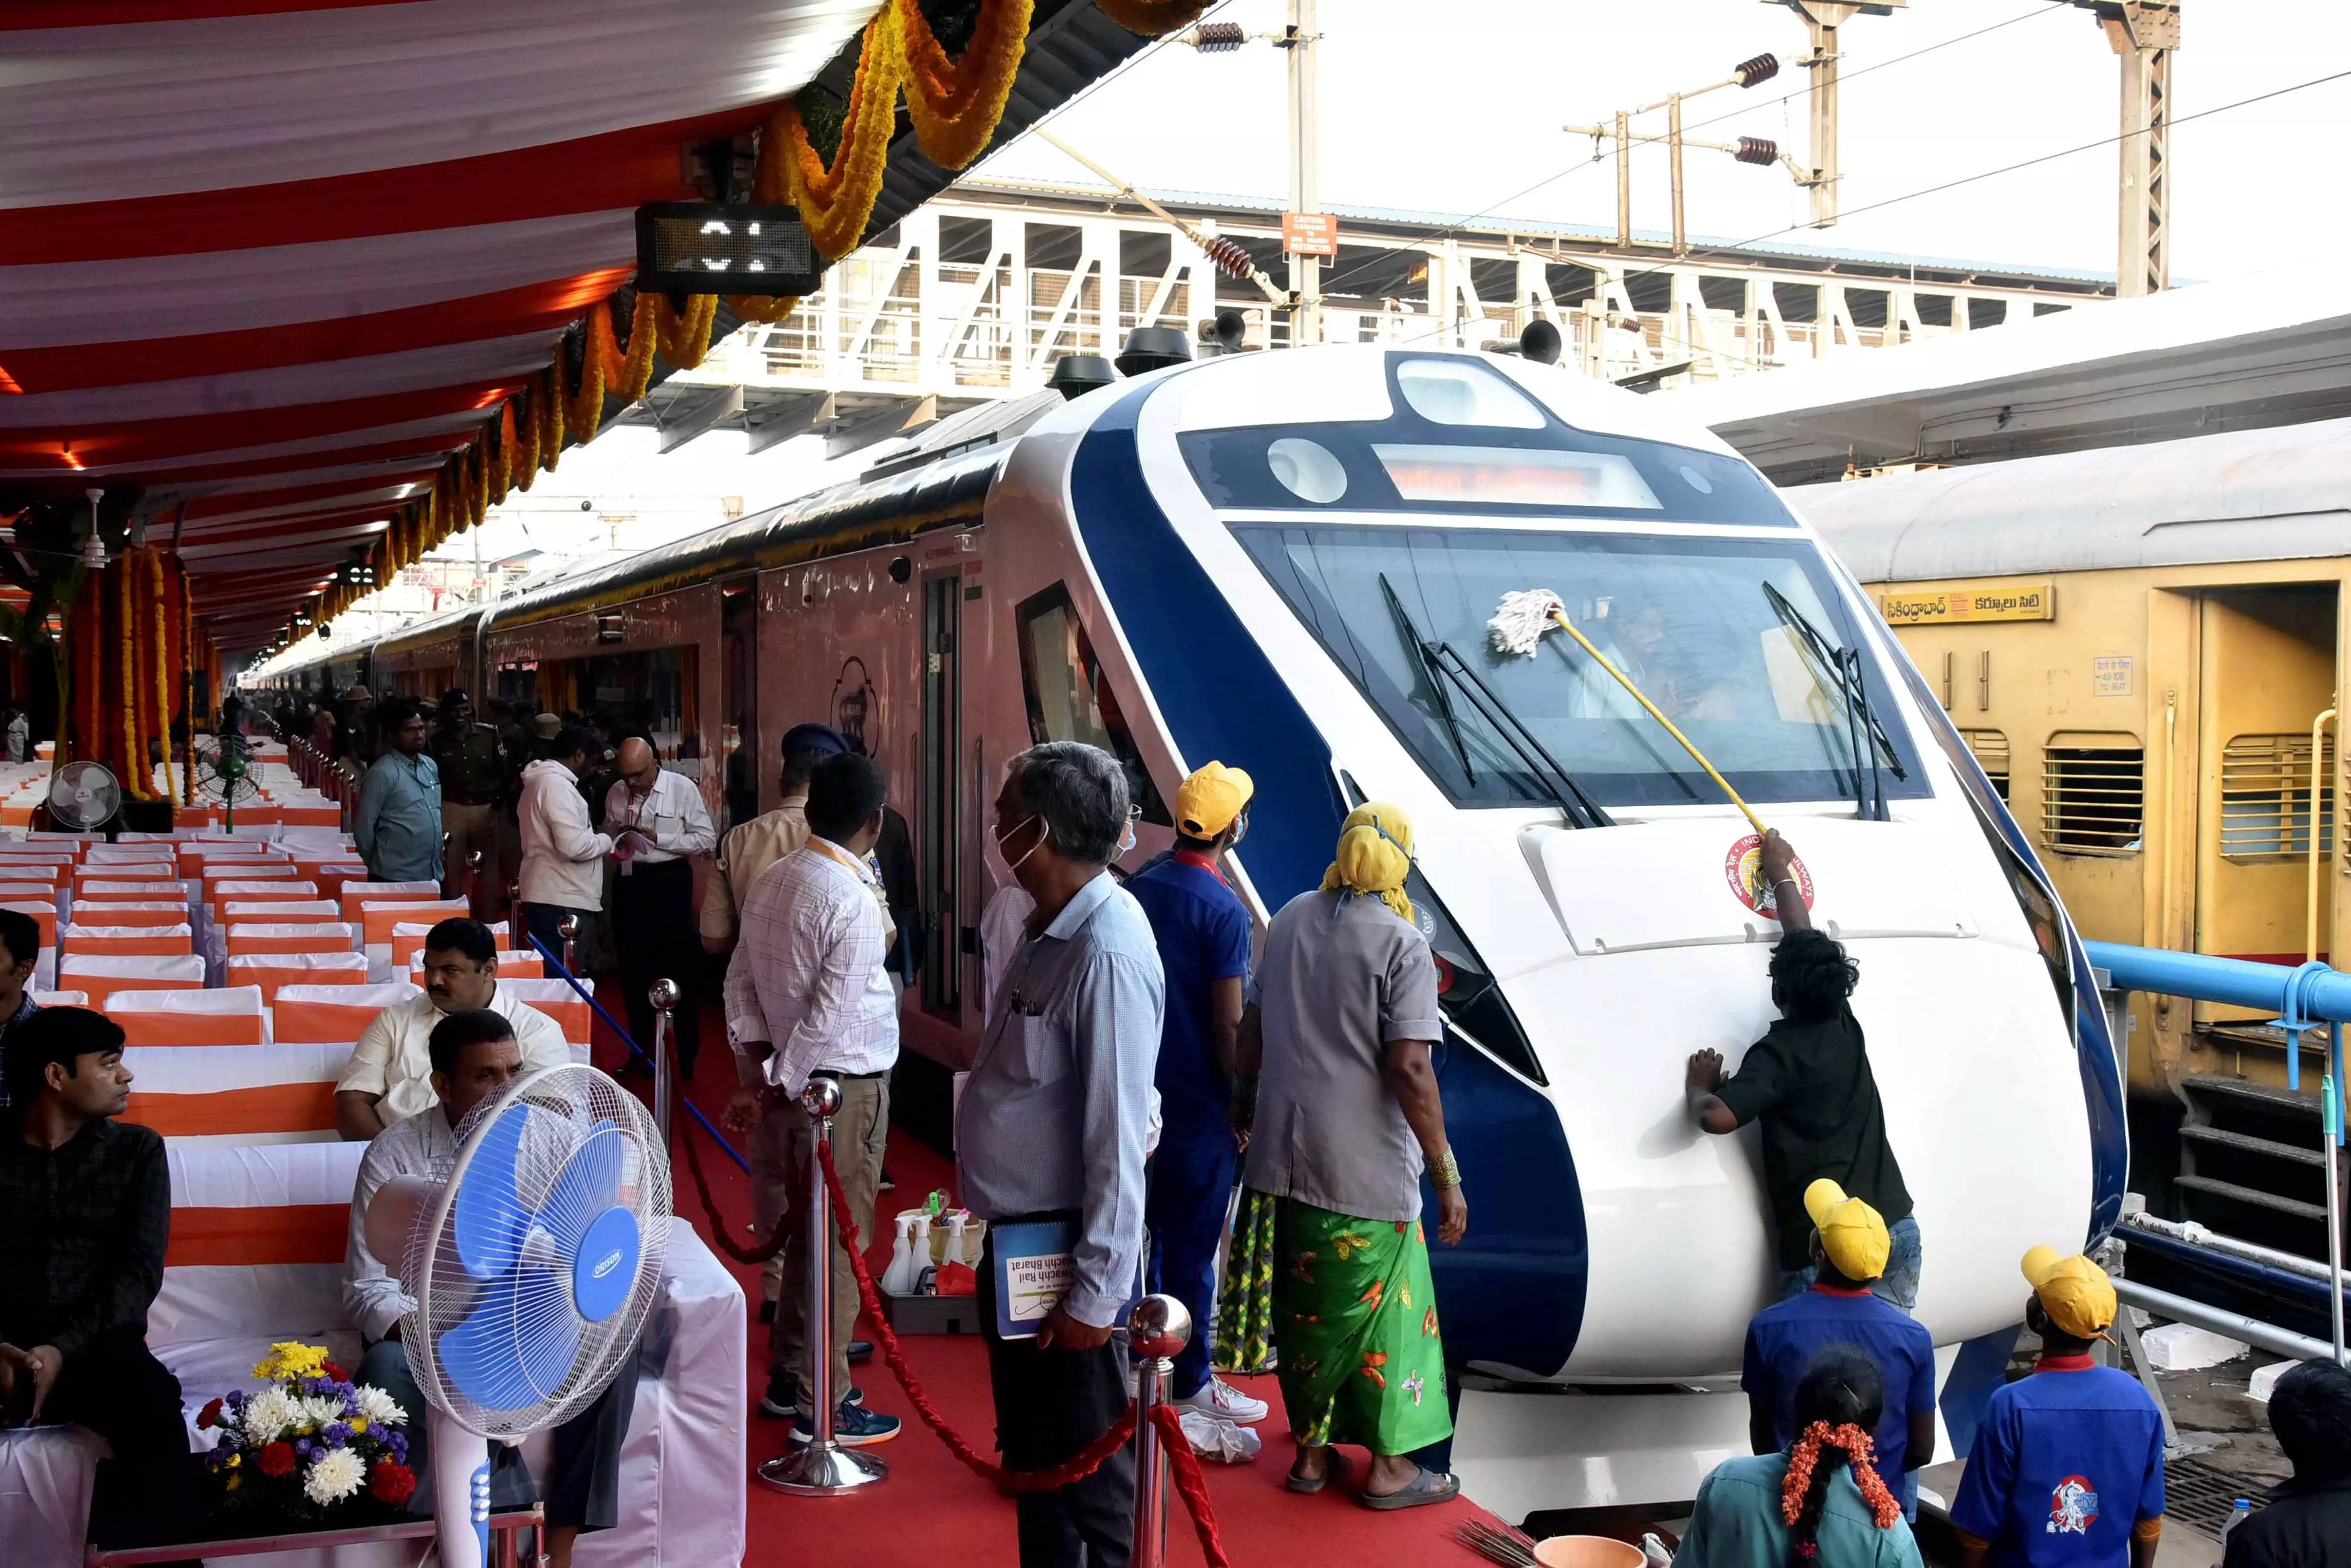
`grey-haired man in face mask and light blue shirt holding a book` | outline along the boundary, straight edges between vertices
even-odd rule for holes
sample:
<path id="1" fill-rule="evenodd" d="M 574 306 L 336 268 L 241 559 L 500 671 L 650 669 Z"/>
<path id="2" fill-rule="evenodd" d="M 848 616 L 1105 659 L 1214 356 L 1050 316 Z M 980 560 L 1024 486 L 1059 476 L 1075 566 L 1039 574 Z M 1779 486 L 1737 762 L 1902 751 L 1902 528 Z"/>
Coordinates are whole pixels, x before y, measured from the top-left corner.
<path id="1" fill-rule="evenodd" d="M 1110 752 L 1056 741 L 1011 762 L 997 849 L 1037 900 L 964 1081 L 955 1152 L 964 1204 L 987 1220 L 980 1331 L 1011 1469 L 1074 1458 L 1126 1408 L 1110 1331 L 1143 1269 L 1143 1143 L 1166 980 L 1143 907 L 1107 865 L 1128 846 L 1126 773 Z M 1034 1338 L 997 1331 L 997 1234 L 1067 1222 L 1074 1284 Z M 1136 1458 L 1121 1446 L 1084 1481 L 1016 1502 L 1020 1568 L 1126 1568 Z"/>

